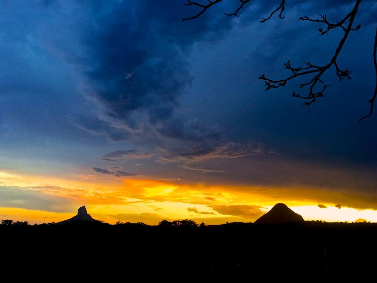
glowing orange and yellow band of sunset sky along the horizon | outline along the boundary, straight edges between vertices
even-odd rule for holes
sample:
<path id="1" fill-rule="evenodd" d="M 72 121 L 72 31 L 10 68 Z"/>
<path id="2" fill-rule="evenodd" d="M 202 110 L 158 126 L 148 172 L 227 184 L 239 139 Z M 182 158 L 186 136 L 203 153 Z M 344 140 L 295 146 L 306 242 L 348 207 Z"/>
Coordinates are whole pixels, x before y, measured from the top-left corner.
<path id="1" fill-rule="evenodd" d="M 64 212 L 54 208 L 25 209 L 23 202 L 7 203 L 0 207 L 0 219 L 57 222 L 75 215 L 77 208 L 86 205 L 89 214 L 109 223 L 192 219 L 206 224 L 226 221 L 251 222 L 259 214 L 245 214 L 237 206 L 250 206 L 250 211 L 268 211 L 282 202 L 301 214 L 305 220 L 355 221 L 358 218 L 377 221 L 377 211 L 368 199 L 352 198 L 332 190 L 316 188 L 274 188 L 263 186 L 181 184 L 143 178 L 114 178 L 106 175 L 73 175 L 67 178 L 26 175 L 0 171 L 0 185 L 8 191 L 21 191 L 35 198 L 61 200 Z M 1 188 L 0 188 L 1 189 Z M 321 209 L 319 200 L 328 206 Z M 59 201 L 57 202 L 59 203 Z M 342 208 L 335 207 L 342 203 Z M 230 207 L 224 214 L 224 207 Z M 219 208 L 223 208 L 220 210 Z M 216 210 L 217 209 L 217 210 Z M 62 209 L 60 209 L 62 211 Z"/>

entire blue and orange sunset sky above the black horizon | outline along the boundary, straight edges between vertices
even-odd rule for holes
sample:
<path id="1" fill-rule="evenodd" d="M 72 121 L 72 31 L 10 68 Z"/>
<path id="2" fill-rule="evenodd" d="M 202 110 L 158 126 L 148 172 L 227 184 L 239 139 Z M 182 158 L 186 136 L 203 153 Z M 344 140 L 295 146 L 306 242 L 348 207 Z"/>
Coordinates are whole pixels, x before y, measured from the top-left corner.
<path id="1" fill-rule="evenodd" d="M 203 1 L 205 2 L 205 1 Z M 277 3 L 279 2 L 279 3 Z M 319 36 L 354 0 L 255 0 L 200 17 L 184 0 L 5 1 L 0 7 L 0 220 L 57 222 L 86 205 L 109 223 L 251 222 L 276 203 L 305 220 L 377 222 L 373 43 L 363 0 L 329 86 L 311 106 L 284 63 L 326 65 Z M 323 26 L 322 26 L 323 27 Z M 299 89 L 304 92 L 305 89 Z"/>

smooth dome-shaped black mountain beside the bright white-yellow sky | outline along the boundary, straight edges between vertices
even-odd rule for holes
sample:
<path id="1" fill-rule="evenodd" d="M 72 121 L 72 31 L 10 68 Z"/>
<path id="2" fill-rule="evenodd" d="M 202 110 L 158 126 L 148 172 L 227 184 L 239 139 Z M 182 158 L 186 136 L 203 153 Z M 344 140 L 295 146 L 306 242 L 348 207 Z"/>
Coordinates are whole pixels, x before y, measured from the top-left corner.
<path id="1" fill-rule="evenodd" d="M 273 224 L 293 221 L 304 221 L 300 214 L 291 210 L 284 203 L 278 203 L 271 208 L 266 214 L 259 217 L 255 224 Z"/>

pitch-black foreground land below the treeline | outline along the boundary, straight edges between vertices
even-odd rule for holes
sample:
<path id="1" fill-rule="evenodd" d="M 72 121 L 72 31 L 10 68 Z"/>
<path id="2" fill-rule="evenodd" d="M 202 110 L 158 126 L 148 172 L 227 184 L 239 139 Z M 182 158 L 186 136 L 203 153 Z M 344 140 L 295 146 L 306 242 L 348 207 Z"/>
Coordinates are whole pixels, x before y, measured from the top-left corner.
<path id="1" fill-rule="evenodd" d="M 377 282 L 376 236 L 375 223 L 21 223 L 0 225 L 1 267 L 13 274 L 97 279 L 138 274 Z"/>

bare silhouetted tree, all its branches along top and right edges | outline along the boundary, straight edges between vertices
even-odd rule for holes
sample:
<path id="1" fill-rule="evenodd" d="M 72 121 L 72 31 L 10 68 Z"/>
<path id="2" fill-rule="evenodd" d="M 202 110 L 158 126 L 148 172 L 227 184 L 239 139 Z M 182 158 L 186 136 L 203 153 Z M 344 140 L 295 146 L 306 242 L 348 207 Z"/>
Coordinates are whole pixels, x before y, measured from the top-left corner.
<path id="1" fill-rule="evenodd" d="M 223 0 L 207 0 L 207 3 L 205 3 L 205 0 L 202 0 L 201 3 L 194 2 L 191 0 L 187 0 L 187 4 L 185 6 L 197 6 L 200 11 L 193 15 L 192 17 L 182 18 L 182 21 L 187 20 L 193 20 L 195 18 L 198 18 L 200 15 L 202 15 L 207 9 L 211 8 L 212 6 L 216 5 L 219 2 L 222 2 Z M 238 8 L 231 13 L 224 13 L 228 16 L 234 16 L 239 17 L 238 13 L 241 11 L 242 8 L 244 8 L 246 5 L 248 5 L 251 0 L 239 0 L 241 3 L 238 6 Z M 273 88 L 280 88 L 285 85 L 291 80 L 294 80 L 301 76 L 306 75 L 313 75 L 309 80 L 305 82 L 301 82 L 298 85 L 296 85 L 298 88 L 308 88 L 308 93 L 305 95 L 302 95 L 300 93 L 297 93 L 296 91 L 293 91 L 293 97 L 300 98 L 305 100 L 305 102 L 302 105 L 311 105 L 313 102 L 316 102 L 318 98 L 323 97 L 323 92 L 328 88 L 329 85 L 327 85 L 322 80 L 322 75 L 330 69 L 332 66 L 335 67 L 336 75 L 339 78 L 339 80 L 349 80 L 351 79 L 350 74 L 351 71 L 348 68 L 341 68 L 338 65 L 337 58 L 339 56 L 340 51 L 342 50 L 344 43 L 346 42 L 348 35 L 351 31 L 357 31 L 361 28 L 361 25 L 354 26 L 354 20 L 356 18 L 357 11 L 359 9 L 360 3 L 362 0 L 355 0 L 354 6 L 352 10 L 345 15 L 344 18 L 341 20 L 338 20 L 336 22 L 330 22 L 326 14 L 320 15 L 319 18 L 309 18 L 307 16 L 300 17 L 299 20 L 305 21 L 305 22 L 315 22 L 320 23 L 324 26 L 324 28 L 320 27 L 318 28 L 319 35 L 328 34 L 329 31 L 332 29 L 342 29 L 344 31 L 344 35 L 342 39 L 339 42 L 339 45 L 336 48 L 336 51 L 334 55 L 331 57 L 331 60 L 329 60 L 329 63 L 326 65 L 320 66 L 320 65 L 314 65 L 311 62 L 304 62 L 305 66 L 303 67 L 293 67 L 291 66 L 291 62 L 288 61 L 284 63 L 284 69 L 287 69 L 290 71 L 290 75 L 288 75 L 285 78 L 282 79 L 271 79 L 270 77 L 267 77 L 265 74 L 262 74 L 259 79 L 263 80 L 265 82 L 266 89 L 265 91 L 268 91 Z M 205 4 L 202 4 L 205 3 Z M 280 3 L 280 4 L 279 4 Z M 262 18 L 261 23 L 265 23 L 268 20 L 270 20 L 271 17 L 273 17 L 274 14 L 278 14 L 280 19 L 284 19 L 283 12 L 285 9 L 285 0 L 279 0 L 278 2 L 279 6 L 277 6 L 276 9 L 274 9 L 270 15 L 266 18 Z M 375 74 L 376 74 L 376 87 L 374 91 L 374 95 L 372 98 L 368 101 L 371 104 L 370 112 L 368 115 L 360 118 L 359 122 L 361 122 L 364 118 L 368 118 L 373 113 L 373 105 L 374 101 L 377 97 L 377 59 L 376 59 L 376 49 L 377 49 L 377 29 L 376 29 L 376 35 L 375 35 L 375 41 L 374 41 L 374 52 L 373 52 L 373 60 L 374 60 L 374 66 L 375 66 Z"/>

